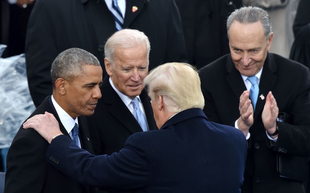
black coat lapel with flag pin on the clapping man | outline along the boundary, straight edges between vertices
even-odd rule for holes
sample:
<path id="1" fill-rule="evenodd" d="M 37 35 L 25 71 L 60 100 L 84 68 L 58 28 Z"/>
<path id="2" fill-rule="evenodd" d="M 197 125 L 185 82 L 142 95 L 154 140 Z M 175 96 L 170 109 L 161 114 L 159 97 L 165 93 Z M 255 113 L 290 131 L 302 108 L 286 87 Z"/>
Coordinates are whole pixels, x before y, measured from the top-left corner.
<path id="1" fill-rule="evenodd" d="M 276 64 L 270 54 L 267 55 L 266 61 L 263 66 L 263 72 L 259 80 L 259 94 L 254 112 L 254 120 L 258 115 L 261 115 L 261 111 L 263 111 L 264 105 L 266 103 L 266 96 L 269 91 L 272 90 L 273 86 L 277 81 L 277 76 L 274 74 L 276 72 Z"/>

